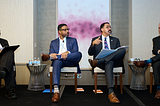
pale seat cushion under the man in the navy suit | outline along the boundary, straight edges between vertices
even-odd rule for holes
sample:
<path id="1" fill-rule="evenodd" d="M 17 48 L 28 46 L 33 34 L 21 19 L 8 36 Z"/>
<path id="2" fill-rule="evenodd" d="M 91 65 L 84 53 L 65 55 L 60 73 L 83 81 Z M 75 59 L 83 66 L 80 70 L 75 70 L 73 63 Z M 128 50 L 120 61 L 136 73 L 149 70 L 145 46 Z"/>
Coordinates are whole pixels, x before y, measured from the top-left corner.
<path id="1" fill-rule="evenodd" d="M 50 66 L 50 68 L 49 68 L 49 72 L 52 72 L 52 70 L 53 70 L 53 67 L 52 66 Z M 61 68 L 61 72 L 71 72 L 71 73 L 75 73 L 75 72 L 77 72 L 77 67 L 63 67 L 63 68 Z"/>

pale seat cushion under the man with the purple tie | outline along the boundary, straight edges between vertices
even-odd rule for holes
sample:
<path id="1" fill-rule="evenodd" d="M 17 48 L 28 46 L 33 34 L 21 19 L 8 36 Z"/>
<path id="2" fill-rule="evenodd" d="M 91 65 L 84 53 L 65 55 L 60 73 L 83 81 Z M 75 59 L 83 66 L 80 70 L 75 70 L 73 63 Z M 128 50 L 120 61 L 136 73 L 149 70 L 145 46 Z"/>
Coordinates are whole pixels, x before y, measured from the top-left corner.
<path id="1" fill-rule="evenodd" d="M 105 73 L 105 71 L 100 69 L 99 67 L 96 67 L 94 68 L 94 73 Z M 113 68 L 113 73 L 122 73 L 122 67 Z"/>

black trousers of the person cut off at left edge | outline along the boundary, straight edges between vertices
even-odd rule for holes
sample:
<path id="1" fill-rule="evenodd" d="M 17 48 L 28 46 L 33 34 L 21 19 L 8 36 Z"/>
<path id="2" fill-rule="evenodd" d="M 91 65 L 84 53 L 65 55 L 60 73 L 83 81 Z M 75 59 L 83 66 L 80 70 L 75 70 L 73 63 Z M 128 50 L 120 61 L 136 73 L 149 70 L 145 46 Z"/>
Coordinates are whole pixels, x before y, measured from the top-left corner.
<path id="1" fill-rule="evenodd" d="M 8 50 L 3 54 L 0 54 L 0 67 L 6 69 L 5 87 L 6 90 L 14 90 L 16 87 L 15 75 L 13 70 L 14 65 L 14 52 Z"/>

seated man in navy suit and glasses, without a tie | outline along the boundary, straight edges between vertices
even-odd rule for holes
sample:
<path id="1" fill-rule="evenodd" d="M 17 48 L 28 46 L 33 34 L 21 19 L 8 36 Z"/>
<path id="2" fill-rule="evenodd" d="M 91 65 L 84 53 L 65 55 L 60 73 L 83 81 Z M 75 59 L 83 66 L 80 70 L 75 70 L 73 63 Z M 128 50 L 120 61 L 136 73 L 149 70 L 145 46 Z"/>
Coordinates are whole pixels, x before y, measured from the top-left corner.
<path id="1" fill-rule="evenodd" d="M 49 55 L 42 54 L 42 60 L 52 60 L 53 66 L 53 82 L 54 82 L 54 94 L 52 102 L 59 101 L 59 81 L 60 72 L 62 67 L 74 67 L 77 66 L 78 73 L 80 73 L 79 61 L 82 54 L 78 50 L 78 44 L 76 38 L 68 37 L 69 29 L 66 24 L 60 24 L 58 26 L 59 37 L 51 41 Z"/>

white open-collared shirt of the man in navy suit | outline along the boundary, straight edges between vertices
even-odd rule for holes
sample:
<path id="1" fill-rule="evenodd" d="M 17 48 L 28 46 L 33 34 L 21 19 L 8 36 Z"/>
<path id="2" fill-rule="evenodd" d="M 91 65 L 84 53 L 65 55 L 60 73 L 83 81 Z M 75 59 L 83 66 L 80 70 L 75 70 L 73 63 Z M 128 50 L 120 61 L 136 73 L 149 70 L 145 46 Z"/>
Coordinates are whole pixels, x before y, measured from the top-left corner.
<path id="1" fill-rule="evenodd" d="M 66 37 L 62 40 L 60 39 L 59 37 L 59 53 L 58 54 L 61 54 L 61 53 L 64 53 L 67 51 L 67 45 L 66 45 Z"/>

